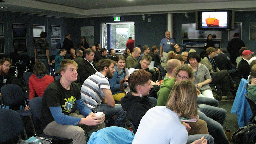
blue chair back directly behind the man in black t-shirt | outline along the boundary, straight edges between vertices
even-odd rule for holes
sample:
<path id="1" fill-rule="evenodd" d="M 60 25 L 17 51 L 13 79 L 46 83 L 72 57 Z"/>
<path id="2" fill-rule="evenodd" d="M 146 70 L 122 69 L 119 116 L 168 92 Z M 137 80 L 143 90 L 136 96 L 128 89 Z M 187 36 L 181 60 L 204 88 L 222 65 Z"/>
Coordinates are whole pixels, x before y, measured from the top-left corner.
<path id="1" fill-rule="evenodd" d="M 30 111 L 33 116 L 34 125 L 40 125 L 40 117 L 41 117 L 41 107 L 42 107 L 42 97 L 35 97 L 29 100 Z"/>

